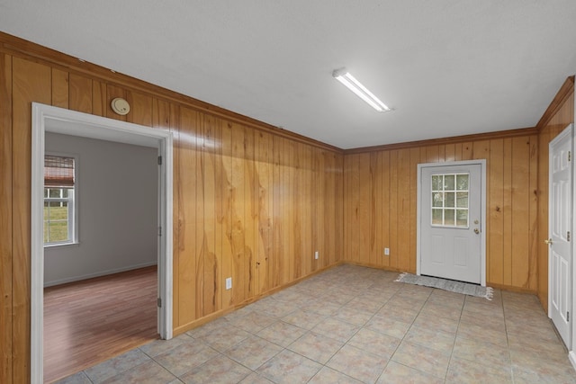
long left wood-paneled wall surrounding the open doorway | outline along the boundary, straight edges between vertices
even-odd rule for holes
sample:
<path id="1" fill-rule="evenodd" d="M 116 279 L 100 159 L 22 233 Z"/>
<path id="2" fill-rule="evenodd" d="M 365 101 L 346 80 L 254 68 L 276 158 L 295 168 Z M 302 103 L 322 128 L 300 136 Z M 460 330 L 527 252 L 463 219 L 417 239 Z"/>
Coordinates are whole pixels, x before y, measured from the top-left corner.
<path id="1" fill-rule="evenodd" d="M 340 260 L 338 148 L 0 33 L 0 382 L 30 380 L 32 102 L 174 133 L 176 334 Z"/>

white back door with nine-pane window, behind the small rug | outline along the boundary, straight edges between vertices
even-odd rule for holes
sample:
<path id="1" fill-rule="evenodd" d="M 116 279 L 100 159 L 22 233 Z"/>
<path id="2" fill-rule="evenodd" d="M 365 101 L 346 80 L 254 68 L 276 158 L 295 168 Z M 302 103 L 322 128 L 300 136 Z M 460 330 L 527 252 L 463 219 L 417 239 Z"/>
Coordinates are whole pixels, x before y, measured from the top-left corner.
<path id="1" fill-rule="evenodd" d="M 482 164 L 419 171 L 419 274 L 485 284 Z"/>

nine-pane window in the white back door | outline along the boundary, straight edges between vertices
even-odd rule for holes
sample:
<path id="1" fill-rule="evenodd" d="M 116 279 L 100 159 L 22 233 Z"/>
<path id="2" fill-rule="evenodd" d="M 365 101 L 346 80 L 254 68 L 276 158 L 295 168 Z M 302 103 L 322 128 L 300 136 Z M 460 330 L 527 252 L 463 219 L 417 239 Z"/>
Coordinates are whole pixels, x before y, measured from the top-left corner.
<path id="1" fill-rule="evenodd" d="M 470 174 L 432 175 L 432 225 L 468 228 Z"/>

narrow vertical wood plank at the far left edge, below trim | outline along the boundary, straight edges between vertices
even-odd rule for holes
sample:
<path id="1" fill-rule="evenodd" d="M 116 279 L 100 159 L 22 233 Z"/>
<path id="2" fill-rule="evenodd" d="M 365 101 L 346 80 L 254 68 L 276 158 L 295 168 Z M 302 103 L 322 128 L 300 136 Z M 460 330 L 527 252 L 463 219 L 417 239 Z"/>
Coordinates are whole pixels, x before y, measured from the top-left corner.
<path id="1" fill-rule="evenodd" d="M 0 382 L 12 382 L 12 58 L 0 55 Z"/>

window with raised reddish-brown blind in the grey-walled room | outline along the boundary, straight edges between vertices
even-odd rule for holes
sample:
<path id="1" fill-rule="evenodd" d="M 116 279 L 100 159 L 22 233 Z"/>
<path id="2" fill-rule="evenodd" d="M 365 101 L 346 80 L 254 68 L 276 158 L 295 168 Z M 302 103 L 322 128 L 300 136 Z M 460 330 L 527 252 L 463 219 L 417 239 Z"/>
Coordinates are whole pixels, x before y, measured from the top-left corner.
<path id="1" fill-rule="evenodd" d="M 44 156 L 44 245 L 76 242 L 76 159 Z"/>

